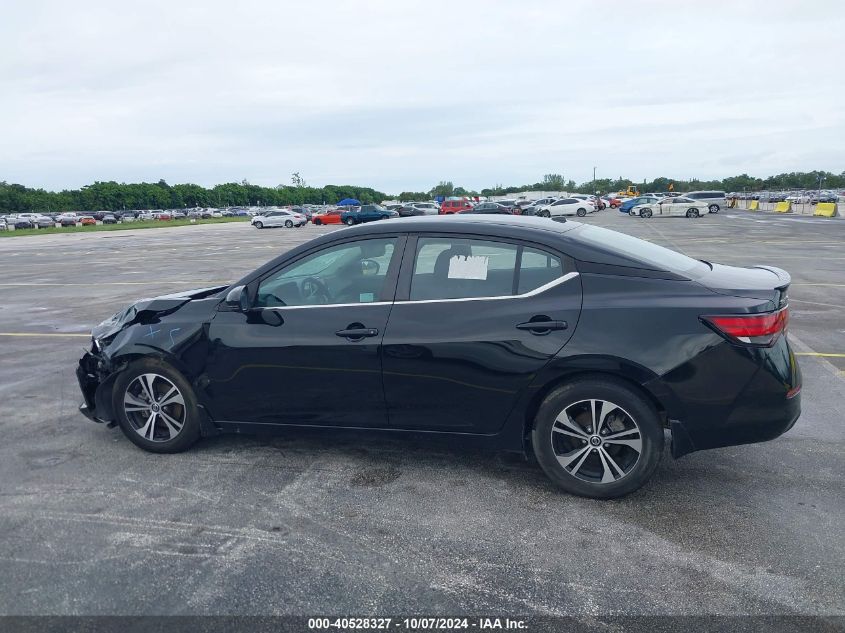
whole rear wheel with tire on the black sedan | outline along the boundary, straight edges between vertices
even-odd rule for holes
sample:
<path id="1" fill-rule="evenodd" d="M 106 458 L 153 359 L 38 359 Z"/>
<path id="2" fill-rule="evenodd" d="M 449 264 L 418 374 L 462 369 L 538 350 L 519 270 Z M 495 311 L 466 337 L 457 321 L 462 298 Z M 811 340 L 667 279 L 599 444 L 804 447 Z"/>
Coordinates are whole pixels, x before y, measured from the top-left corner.
<path id="1" fill-rule="evenodd" d="M 595 412 L 600 429 L 591 422 Z M 560 417 L 568 421 L 559 422 Z M 664 438 L 657 411 L 635 387 L 596 376 L 573 380 L 546 396 L 531 443 L 540 467 L 557 486 L 581 497 L 612 499 L 651 478 L 663 456 Z"/>

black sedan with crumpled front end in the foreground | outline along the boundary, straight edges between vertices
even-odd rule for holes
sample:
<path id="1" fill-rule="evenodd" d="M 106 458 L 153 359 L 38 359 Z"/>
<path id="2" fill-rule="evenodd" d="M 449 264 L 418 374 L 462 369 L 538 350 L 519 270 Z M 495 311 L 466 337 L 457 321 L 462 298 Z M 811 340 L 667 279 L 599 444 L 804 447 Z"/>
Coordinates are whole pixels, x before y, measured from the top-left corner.
<path id="1" fill-rule="evenodd" d="M 379 222 L 118 312 L 80 360 L 81 410 L 160 453 L 302 425 L 460 434 L 617 497 L 667 429 L 680 457 L 792 427 L 789 284 L 577 222 Z"/>

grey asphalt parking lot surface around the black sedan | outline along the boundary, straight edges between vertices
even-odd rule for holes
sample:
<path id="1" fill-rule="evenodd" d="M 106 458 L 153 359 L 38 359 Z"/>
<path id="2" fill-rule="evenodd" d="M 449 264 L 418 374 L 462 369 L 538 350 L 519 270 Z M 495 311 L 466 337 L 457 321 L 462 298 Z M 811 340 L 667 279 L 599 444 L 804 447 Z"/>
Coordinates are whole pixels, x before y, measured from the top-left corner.
<path id="1" fill-rule="evenodd" d="M 845 615 L 845 221 L 586 221 L 788 270 L 797 425 L 667 454 L 644 489 L 609 502 L 437 440 L 290 432 L 152 455 L 76 410 L 90 327 L 337 229 L 0 241 L 0 613 Z"/>

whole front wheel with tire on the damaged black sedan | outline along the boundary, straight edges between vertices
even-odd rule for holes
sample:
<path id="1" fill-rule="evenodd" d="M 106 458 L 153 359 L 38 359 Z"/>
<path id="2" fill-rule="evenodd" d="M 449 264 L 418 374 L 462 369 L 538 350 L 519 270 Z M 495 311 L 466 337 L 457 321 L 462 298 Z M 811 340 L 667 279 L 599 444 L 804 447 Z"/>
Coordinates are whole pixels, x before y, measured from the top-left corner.
<path id="1" fill-rule="evenodd" d="M 175 395 L 171 391 L 174 388 Z M 145 395 L 150 390 L 158 398 L 156 402 L 150 403 Z M 152 453 L 179 453 L 199 438 L 194 391 L 184 376 L 167 363 L 152 358 L 131 363 L 115 380 L 112 393 L 120 429 L 136 446 Z"/>

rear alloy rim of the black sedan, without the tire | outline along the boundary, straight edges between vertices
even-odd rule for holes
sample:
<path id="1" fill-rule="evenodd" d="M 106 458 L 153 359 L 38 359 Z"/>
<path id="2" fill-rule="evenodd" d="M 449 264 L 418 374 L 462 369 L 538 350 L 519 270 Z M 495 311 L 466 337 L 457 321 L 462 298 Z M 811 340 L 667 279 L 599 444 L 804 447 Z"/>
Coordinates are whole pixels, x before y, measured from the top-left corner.
<path id="1" fill-rule="evenodd" d="M 591 484 L 626 477 L 643 450 L 636 420 L 607 400 L 581 400 L 566 407 L 552 425 L 550 440 L 561 467 Z"/>

